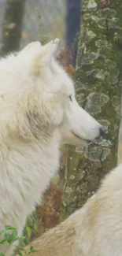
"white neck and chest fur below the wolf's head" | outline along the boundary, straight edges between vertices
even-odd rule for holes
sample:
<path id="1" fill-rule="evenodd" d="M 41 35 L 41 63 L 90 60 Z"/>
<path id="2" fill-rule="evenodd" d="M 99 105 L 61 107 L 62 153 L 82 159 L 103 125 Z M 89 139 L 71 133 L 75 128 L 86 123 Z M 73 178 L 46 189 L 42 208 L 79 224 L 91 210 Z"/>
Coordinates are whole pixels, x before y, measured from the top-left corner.
<path id="1" fill-rule="evenodd" d="M 48 143 L 41 137 L 33 140 L 6 137 L 0 150 L 0 229 L 10 224 L 21 234 L 26 218 L 41 202 L 58 168 L 58 133 L 48 138 Z M 5 244 L 0 245 L 0 251 L 6 252 Z"/>

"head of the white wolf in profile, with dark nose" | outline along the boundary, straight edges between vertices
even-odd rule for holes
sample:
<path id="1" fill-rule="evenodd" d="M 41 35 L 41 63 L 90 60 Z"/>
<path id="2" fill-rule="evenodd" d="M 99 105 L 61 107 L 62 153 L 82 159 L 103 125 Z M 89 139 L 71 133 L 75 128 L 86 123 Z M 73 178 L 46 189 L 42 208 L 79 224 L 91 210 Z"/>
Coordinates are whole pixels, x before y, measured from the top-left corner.
<path id="1" fill-rule="evenodd" d="M 80 145 L 104 130 L 76 102 L 72 79 L 55 59 L 58 45 L 59 39 L 44 46 L 29 43 L 17 56 L 0 62 L 2 81 L 4 75 L 9 76 L 0 89 L 1 103 L 4 109 L 6 95 L 6 125 L 13 135 L 32 139 L 48 137 L 57 130 L 61 143 Z"/>

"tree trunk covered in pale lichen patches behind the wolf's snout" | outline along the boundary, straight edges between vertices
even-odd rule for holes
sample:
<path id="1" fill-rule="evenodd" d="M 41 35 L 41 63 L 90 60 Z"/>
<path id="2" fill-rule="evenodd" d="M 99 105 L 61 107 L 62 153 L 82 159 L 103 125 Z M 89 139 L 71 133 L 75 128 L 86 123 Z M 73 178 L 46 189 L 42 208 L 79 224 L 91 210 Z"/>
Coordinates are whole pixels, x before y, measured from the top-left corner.
<path id="1" fill-rule="evenodd" d="M 77 99 L 79 105 L 105 125 L 110 139 L 100 139 L 98 145 L 85 150 L 69 147 L 61 220 L 83 206 L 98 189 L 105 173 L 117 163 L 122 86 L 122 2 L 84 0 L 82 12 L 76 66 Z M 119 154 L 121 152 L 119 150 Z M 119 155 L 119 160 L 121 158 Z"/>

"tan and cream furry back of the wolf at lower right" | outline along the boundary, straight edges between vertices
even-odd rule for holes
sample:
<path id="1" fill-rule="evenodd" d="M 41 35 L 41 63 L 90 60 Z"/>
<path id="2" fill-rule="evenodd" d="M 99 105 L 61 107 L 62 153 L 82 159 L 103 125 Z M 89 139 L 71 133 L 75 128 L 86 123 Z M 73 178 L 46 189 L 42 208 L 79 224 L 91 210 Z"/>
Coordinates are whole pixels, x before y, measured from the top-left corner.
<path id="1" fill-rule="evenodd" d="M 31 245 L 39 250 L 32 256 L 122 255 L 122 164 L 83 208 Z"/>

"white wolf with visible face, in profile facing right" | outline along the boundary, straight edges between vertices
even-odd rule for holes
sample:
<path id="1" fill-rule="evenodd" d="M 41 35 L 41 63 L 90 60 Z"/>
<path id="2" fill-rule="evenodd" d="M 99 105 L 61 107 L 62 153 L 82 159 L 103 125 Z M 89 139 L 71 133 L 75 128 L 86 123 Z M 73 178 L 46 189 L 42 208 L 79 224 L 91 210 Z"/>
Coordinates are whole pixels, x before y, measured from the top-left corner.
<path id="1" fill-rule="evenodd" d="M 0 61 L 0 229 L 10 224 L 19 234 L 58 170 L 61 143 L 80 145 L 104 132 L 76 102 L 54 59 L 58 43 L 30 43 Z"/>

